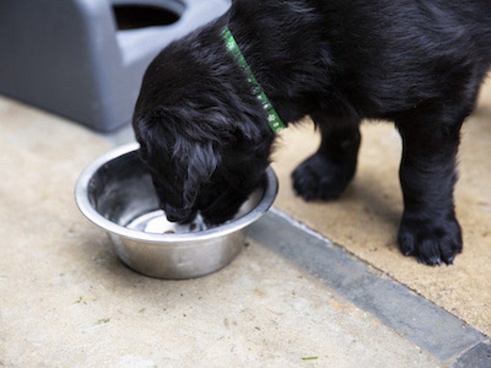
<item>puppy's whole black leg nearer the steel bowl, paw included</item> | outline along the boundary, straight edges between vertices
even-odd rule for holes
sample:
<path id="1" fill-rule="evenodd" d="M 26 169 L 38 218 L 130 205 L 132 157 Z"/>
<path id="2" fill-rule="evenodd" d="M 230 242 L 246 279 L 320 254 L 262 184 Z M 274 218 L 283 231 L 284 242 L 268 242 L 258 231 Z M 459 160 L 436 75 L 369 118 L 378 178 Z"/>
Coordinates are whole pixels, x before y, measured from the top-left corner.
<path id="1" fill-rule="evenodd" d="M 292 173 L 293 187 L 305 200 L 339 197 L 355 175 L 361 136 L 359 122 L 311 114 L 322 135 L 318 151 Z"/>

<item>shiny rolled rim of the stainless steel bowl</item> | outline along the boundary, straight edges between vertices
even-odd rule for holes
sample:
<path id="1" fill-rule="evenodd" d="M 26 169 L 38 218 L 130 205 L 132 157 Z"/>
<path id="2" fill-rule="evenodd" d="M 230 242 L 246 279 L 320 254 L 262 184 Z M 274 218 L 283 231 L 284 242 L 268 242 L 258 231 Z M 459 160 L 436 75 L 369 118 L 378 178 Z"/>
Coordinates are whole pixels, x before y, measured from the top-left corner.
<path id="1" fill-rule="evenodd" d="M 186 245 L 186 243 L 188 243 L 188 245 L 190 245 L 190 242 L 200 242 L 203 240 L 224 237 L 228 234 L 243 229 L 262 217 L 272 206 L 274 199 L 276 198 L 278 191 L 278 180 L 273 169 L 268 167 L 266 169 L 267 185 L 264 188 L 261 200 L 258 202 L 256 207 L 238 219 L 231 220 L 230 222 L 226 222 L 225 224 L 209 230 L 195 233 L 153 234 L 128 229 L 108 220 L 92 207 L 88 199 L 88 185 L 93 175 L 103 165 L 120 156 L 131 154 L 138 148 L 139 144 L 137 142 L 129 143 L 112 149 L 109 152 L 99 156 L 82 171 L 75 186 L 75 200 L 79 210 L 92 223 L 114 235 L 148 243 L 181 243 L 182 245 Z"/>

